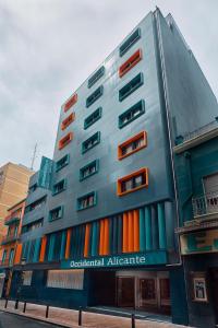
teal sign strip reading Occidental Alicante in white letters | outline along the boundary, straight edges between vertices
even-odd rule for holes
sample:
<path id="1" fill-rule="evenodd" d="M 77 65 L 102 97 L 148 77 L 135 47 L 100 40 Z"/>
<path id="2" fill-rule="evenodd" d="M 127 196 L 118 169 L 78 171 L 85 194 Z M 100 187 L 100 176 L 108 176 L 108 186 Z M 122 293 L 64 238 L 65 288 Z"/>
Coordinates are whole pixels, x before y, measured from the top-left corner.
<path id="1" fill-rule="evenodd" d="M 142 267 L 165 263 L 167 263 L 166 251 L 150 251 L 148 254 L 128 254 L 89 259 L 63 260 L 61 261 L 61 269 Z"/>

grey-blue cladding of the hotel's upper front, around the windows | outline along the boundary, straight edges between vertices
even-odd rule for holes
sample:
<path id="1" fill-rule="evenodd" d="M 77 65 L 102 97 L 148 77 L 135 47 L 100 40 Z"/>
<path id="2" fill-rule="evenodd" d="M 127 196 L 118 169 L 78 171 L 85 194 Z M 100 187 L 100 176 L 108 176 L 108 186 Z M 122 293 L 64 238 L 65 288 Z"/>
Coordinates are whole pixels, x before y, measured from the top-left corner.
<path id="1" fill-rule="evenodd" d="M 73 110 L 76 120 L 66 128 L 74 134 L 73 141 L 59 151 L 56 145 L 53 160 L 58 161 L 65 153 L 70 153 L 70 164 L 55 175 L 55 181 L 61 178 L 68 179 L 68 188 L 55 198 L 49 197 L 49 208 L 52 209 L 57 202 L 64 206 L 62 220 L 47 225 L 46 232 L 63 229 L 95 219 L 106 218 L 111 214 L 123 212 L 146 203 L 161 199 L 169 199 L 172 196 L 170 188 L 170 167 L 167 166 L 166 136 L 160 109 L 160 98 L 158 90 L 158 73 L 155 52 L 155 38 L 152 14 L 149 14 L 140 25 L 141 38 L 122 57 L 119 56 L 119 47 L 105 61 L 105 75 L 97 81 L 95 87 L 87 87 L 85 82 L 77 91 L 77 103 L 68 112 Z M 130 70 L 122 79 L 119 78 L 119 67 L 138 47 L 143 51 L 143 60 Z M 111 65 L 116 62 L 116 65 Z M 136 74 L 143 73 L 144 84 L 135 92 L 119 102 L 119 90 L 130 82 Z M 108 75 L 111 75 L 108 79 Z M 90 107 L 86 108 L 85 99 L 99 85 L 104 85 L 104 95 L 99 97 Z M 118 127 L 119 116 L 136 104 L 140 99 L 145 101 L 145 114 L 125 126 L 122 130 Z M 102 107 L 101 118 L 84 130 L 84 119 L 98 107 Z M 61 121 L 65 114 L 61 110 L 58 141 L 64 136 L 61 130 Z M 135 153 L 122 163 L 118 160 L 118 144 L 122 143 L 131 136 L 146 130 L 148 138 L 147 148 Z M 85 154 L 81 152 L 81 144 L 95 132 L 100 131 L 100 143 Z M 80 168 L 92 161 L 99 159 L 99 172 L 90 178 L 80 183 Z M 161 159 L 161 161 L 159 161 Z M 118 178 L 129 175 L 141 167 L 150 167 L 149 186 L 147 189 L 128 195 L 120 199 L 117 196 Z M 84 195 L 84 190 L 93 191 L 93 186 L 98 192 L 97 204 L 92 209 L 82 212 L 76 211 L 76 199 Z M 73 186 L 76 186 L 75 188 Z M 57 200 L 58 198 L 58 200 Z"/>

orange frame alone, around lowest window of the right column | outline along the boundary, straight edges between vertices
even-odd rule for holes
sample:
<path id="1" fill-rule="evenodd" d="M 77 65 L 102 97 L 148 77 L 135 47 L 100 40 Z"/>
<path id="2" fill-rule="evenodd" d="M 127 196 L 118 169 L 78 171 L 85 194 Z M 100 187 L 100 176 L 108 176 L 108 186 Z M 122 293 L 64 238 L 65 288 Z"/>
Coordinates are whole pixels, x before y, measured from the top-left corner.
<path id="1" fill-rule="evenodd" d="M 138 186 L 138 187 L 135 187 L 133 189 L 130 189 L 130 190 L 126 190 L 126 191 L 122 191 L 122 183 L 125 183 L 128 180 L 130 180 L 131 178 L 134 178 L 138 175 L 143 174 L 144 175 L 144 180 L 145 180 L 145 184 Z M 147 167 L 142 167 L 141 169 L 138 171 L 135 171 L 122 178 L 119 178 L 118 179 L 118 183 L 117 183 L 117 195 L 118 196 L 124 196 L 126 194 L 130 194 L 130 192 L 134 192 L 136 190 L 140 190 L 142 188 L 147 188 L 148 187 L 148 168 Z"/>

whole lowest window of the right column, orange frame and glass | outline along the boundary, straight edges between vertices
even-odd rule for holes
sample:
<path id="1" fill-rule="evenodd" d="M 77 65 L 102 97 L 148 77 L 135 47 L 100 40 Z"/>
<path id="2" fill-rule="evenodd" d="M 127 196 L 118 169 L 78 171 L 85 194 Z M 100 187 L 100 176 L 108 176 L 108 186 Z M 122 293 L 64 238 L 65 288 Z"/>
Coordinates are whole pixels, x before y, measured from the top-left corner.
<path id="1" fill-rule="evenodd" d="M 148 168 L 143 167 L 128 176 L 118 179 L 118 196 L 148 187 Z"/>

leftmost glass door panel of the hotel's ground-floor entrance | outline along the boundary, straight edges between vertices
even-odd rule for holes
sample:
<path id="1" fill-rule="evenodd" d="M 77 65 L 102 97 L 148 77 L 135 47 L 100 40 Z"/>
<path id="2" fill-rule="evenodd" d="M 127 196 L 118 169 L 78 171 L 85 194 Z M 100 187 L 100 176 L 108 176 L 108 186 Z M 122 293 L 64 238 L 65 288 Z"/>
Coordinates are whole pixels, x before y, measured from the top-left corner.
<path id="1" fill-rule="evenodd" d="M 133 277 L 118 277 L 118 306 L 135 307 L 135 279 Z"/>

